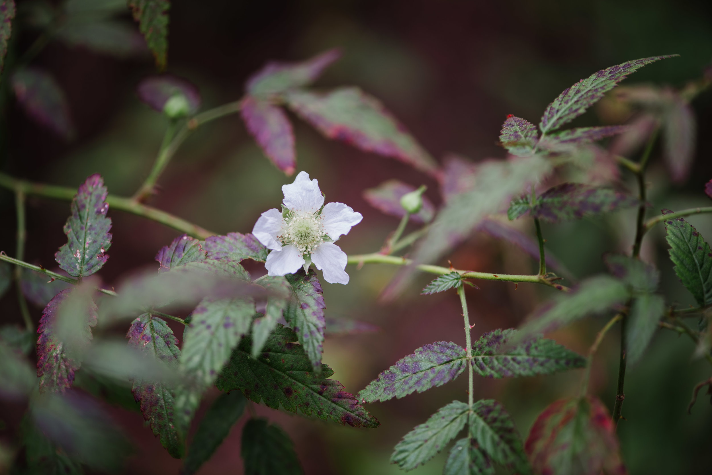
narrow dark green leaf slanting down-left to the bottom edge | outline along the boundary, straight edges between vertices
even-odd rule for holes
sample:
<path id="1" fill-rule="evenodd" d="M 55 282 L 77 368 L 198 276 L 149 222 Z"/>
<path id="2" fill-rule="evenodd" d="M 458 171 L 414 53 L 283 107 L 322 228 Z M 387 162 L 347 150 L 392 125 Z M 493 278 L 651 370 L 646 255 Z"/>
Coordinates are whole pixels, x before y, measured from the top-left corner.
<path id="1" fill-rule="evenodd" d="M 221 394 L 213 402 L 193 436 L 182 474 L 194 474 L 210 459 L 240 419 L 246 402 L 247 400 L 239 391 Z"/>

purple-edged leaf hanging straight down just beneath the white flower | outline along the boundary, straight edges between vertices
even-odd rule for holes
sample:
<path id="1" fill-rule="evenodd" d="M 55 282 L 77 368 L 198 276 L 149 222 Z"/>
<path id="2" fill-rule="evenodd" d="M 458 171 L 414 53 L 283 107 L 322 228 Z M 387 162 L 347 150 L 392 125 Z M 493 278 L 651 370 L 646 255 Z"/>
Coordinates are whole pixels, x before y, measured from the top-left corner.
<path id="1" fill-rule="evenodd" d="M 315 372 L 321 370 L 321 353 L 323 352 L 324 318 L 323 291 L 314 269 L 309 273 L 303 270 L 286 276 L 291 286 L 291 295 L 284 308 L 284 318 L 299 338 L 299 343 L 312 362 Z"/>

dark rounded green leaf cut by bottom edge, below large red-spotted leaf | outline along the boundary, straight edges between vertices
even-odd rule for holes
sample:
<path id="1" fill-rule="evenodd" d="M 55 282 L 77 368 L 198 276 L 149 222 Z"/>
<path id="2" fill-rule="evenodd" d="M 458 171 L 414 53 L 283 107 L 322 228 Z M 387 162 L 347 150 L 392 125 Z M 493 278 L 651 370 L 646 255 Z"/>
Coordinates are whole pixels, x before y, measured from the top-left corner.
<path id="1" fill-rule="evenodd" d="M 245 475 L 303 474 L 289 436 L 266 419 L 250 419 L 245 424 L 240 454 Z"/>

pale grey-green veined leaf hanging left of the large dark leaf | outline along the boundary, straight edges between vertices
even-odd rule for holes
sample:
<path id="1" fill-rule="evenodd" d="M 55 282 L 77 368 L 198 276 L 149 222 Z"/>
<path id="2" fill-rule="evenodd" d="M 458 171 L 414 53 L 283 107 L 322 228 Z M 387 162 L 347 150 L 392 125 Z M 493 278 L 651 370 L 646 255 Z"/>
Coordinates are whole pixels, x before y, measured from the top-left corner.
<path id="1" fill-rule="evenodd" d="M 250 329 L 252 298 L 205 299 L 192 313 L 183 334 L 180 366 L 204 387 L 215 381 L 230 353 Z"/>

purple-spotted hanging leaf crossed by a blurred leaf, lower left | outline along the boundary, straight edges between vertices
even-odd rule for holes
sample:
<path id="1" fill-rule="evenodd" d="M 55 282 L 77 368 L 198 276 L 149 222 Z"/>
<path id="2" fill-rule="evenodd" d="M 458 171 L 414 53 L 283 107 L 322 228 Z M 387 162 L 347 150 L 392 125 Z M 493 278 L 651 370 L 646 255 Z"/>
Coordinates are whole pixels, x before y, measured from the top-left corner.
<path id="1" fill-rule="evenodd" d="M 177 365 L 180 357 L 178 340 L 164 320 L 144 313 L 131 323 L 126 338 L 131 348 L 169 365 Z M 177 429 L 173 390 L 162 382 L 134 380 L 132 392 L 141 404 L 143 418 L 151 424 L 153 434 L 159 437 L 172 457 L 182 458 L 185 445 L 183 435 Z"/>

